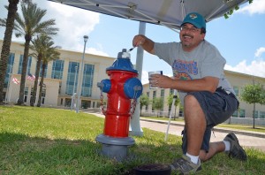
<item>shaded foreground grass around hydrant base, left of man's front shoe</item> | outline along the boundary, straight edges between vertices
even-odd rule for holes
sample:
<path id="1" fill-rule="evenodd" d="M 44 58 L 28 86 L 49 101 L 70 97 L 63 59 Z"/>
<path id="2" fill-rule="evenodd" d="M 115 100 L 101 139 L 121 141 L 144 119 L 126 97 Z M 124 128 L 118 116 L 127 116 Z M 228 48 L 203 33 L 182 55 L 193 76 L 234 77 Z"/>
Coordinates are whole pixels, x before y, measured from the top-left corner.
<path id="1" fill-rule="evenodd" d="M 164 151 L 178 152 L 175 145 L 140 143 L 129 148 L 124 162 L 117 162 L 101 156 L 101 144 L 95 141 L 19 133 L 0 133 L 0 145 L 0 174 L 131 174 L 140 164 L 170 162 L 174 154 L 166 156 Z"/>

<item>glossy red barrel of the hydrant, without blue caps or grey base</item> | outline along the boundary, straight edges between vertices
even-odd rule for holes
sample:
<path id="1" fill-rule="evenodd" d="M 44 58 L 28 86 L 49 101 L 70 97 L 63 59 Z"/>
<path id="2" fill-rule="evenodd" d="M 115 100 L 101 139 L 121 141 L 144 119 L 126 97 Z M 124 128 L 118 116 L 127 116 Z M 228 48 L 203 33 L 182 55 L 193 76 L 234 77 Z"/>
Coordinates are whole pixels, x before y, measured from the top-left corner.
<path id="1" fill-rule="evenodd" d="M 108 107 L 105 116 L 104 134 L 111 137 L 128 137 L 131 99 L 125 95 L 126 80 L 137 77 L 138 73 L 107 71 L 111 88 L 108 93 Z"/>

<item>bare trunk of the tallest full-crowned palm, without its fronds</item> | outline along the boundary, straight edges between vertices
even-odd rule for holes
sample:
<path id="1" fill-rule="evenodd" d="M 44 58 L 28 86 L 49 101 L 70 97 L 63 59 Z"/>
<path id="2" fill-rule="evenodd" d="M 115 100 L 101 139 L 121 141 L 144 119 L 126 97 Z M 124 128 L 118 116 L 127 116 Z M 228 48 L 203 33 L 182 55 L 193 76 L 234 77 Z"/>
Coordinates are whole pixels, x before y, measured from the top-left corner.
<path id="1" fill-rule="evenodd" d="M 24 56 L 23 56 L 23 63 L 22 63 L 22 73 L 21 73 L 21 80 L 20 80 L 20 89 L 19 89 L 19 100 L 17 104 L 24 103 L 24 91 L 25 91 L 25 84 L 26 84 L 26 75 L 27 75 L 27 61 L 28 61 L 28 50 L 29 50 L 29 43 L 31 41 L 31 36 L 25 36 L 25 48 L 24 48 Z"/>

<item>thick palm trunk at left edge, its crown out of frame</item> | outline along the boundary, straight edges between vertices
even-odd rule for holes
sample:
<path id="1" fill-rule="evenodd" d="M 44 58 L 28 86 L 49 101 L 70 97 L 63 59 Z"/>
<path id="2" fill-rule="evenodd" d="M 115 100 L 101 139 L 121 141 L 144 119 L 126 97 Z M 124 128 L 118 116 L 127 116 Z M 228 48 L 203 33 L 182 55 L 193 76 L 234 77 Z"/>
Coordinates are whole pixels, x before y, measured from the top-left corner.
<path id="1" fill-rule="evenodd" d="M 8 57 L 10 54 L 11 37 L 14 27 L 14 20 L 18 11 L 19 0 L 9 0 L 7 19 L 0 19 L 0 26 L 5 27 L 4 42 L 0 58 L 0 104 L 4 101 L 4 76 L 7 68 Z"/>

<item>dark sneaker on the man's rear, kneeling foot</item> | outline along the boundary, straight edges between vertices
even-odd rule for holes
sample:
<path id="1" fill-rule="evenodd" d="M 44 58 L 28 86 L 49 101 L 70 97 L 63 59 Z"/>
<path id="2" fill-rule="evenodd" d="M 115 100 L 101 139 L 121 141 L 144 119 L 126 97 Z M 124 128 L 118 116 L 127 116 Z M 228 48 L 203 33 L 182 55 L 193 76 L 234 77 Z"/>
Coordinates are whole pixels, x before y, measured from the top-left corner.
<path id="1" fill-rule="evenodd" d="M 245 150 L 239 145 L 239 140 L 234 133 L 229 133 L 225 136 L 223 141 L 230 142 L 230 151 L 228 151 L 228 156 L 233 158 L 237 158 L 241 161 L 246 161 L 246 152 Z"/>

